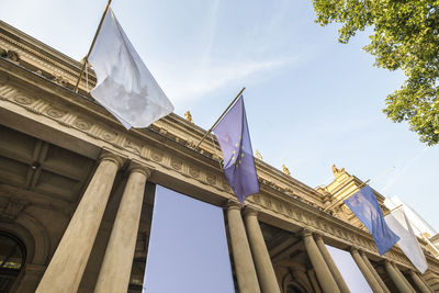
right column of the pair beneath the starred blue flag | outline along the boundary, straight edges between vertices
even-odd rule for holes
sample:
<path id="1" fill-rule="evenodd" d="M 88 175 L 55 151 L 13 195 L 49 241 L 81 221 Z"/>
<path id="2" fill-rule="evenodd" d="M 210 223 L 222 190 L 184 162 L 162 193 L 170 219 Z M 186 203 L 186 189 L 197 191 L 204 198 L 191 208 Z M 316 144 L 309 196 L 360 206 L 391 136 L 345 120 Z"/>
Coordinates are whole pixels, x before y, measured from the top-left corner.
<path id="1" fill-rule="evenodd" d="M 250 243 L 259 284 L 262 293 L 280 293 L 281 291 L 278 280 L 275 279 L 273 264 L 271 263 L 270 255 L 268 253 L 257 215 L 258 211 L 252 207 L 247 206 L 244 210 L 247 236 Z"/>

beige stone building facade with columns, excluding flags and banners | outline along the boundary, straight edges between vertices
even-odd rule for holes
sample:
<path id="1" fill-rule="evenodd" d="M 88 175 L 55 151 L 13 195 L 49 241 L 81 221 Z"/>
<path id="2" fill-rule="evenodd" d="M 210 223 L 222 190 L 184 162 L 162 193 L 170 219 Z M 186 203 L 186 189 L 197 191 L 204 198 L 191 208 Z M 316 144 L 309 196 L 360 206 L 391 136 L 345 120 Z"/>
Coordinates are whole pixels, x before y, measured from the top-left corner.
<path id="1" fill-rule="evenodd" d="M 427 249 L 424 274 L 398 247 L 378 253 L 339 201 L 363 183 L 345 170 L 313 189 L 256 159 L 243 209 L 218 146 L 194 148 L 204 129 L 170 114 L 127 132 L 85 79 L 72 90 L 80 63 L 3 22 L 0 56 L 0 292 L 140 292 L 155 184 L 224 207 L 236 292 L 349 292 L 325 244 L 374 292 L 439 291 Z"/>

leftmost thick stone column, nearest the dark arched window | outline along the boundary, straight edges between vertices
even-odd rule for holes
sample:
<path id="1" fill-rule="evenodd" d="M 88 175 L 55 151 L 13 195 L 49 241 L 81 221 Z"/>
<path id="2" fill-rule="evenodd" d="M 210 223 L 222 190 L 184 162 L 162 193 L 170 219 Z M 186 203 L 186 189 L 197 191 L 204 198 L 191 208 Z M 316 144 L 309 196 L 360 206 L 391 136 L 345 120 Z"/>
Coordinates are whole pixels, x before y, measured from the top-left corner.
<path id="1" fill-rule="evenodd" d="M 104 153 L 36 292 L 76 292 L 123 160 Z"/>

